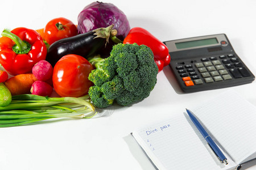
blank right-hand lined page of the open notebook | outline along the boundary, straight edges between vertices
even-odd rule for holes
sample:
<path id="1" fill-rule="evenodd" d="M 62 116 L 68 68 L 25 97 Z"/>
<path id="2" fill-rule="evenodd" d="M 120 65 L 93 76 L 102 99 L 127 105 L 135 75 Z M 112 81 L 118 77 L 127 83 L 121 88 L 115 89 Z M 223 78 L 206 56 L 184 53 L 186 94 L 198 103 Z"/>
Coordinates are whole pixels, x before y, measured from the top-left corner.
<path id="1" fill-rule="evenodd" d="M 243 162 L 256 151 L 256 107 L 235 92 L 192 111 L 235 162 Z"/>

